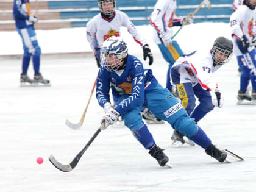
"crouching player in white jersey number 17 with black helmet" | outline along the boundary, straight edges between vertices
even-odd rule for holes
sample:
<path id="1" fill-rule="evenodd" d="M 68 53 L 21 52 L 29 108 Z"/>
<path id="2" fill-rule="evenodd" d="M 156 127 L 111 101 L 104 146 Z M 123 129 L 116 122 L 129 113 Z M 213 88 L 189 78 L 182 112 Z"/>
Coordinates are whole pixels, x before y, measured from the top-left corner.
<path id="1" fill-rule="evenodd" d="M 212 78 L 212 73 L 229 62 L 232 52 L 232 41 L 225 37 L 218 37 L 212 49 L 197 51 L 189 58 L 180 57 L 172 66 L 170 74 L 172 84 L 176 84 L 182 106 L 194 121 L 201 120 L 215 106 L 222 107 L 221 91 Z M 197 107 L 194 96 L 200 102 Z M 183 136 L 175 130 L 171 139 L 174 143 L 184 144 Z"/>

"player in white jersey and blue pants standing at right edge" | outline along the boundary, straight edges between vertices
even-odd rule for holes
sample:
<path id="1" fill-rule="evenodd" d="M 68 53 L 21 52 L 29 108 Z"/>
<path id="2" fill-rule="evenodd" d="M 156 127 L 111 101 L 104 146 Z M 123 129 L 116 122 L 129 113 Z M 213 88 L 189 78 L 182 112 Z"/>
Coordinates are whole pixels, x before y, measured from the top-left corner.
<path id="1" fill-rule="evenodd" d="M 243 4 L 230 16 L 234 54 L 241 69 L 238 104 L 256 104 L 256 60 L 254 39 L 254 9 L 256 0 L 244 0 Z M 246 92 L 249 81 L 252 93 Z"/>

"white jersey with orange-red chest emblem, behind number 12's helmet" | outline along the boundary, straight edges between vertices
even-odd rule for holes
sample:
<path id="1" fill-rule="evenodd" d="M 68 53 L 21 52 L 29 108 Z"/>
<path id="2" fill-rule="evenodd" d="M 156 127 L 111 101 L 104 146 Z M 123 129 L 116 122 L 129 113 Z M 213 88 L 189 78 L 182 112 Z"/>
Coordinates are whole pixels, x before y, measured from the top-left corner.
<path id="1" fill-rule="evenodd" d="M 138 33 L 133 23 L 129 20 L 126 13 L 116 10 L 110 19 L 105 18 L 99 13 L 87 23 L 87 40 L 94 54 L 95 48 L 101 48 L 107 38 L 112 35 L 116 37 L 120 36 L 121 26 L 127 27 L 127 30 L 132 34 L 135 41 L 141 46 L 147 44 L 144 38 Z"/>

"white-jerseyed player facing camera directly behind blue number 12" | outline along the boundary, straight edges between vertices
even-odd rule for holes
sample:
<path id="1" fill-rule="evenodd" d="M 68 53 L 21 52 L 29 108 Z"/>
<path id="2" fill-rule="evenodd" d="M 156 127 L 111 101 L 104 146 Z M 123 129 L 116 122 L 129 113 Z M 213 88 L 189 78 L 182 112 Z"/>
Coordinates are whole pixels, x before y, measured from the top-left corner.
<path id="1" fill-rule="evenodd" d="M 100 48 L 105 40 L 115 35 L 119 37 L 120 27 L 124 26 L 132 34 L 134 40 L 143 48 L 143 59 L 149 58 L 149 65 L 153 63 L 153 55 L 146 40 L 138 32 L 132 21 L 129 20 L 126 13 L 116 8 L 116 0 L 98 0 L 98 6 L 101 13 L 94 16 L 91 21 L 87 23 L 87 40 L 90 43 L 93 54 L 95 55 L 98 67 L 101 65 Z M 113 96 L 114 105 L 117 99 Z M 148 123 L 163 123 L 156 118 L 148 108 L 143 109 L 143 118 Z"/>

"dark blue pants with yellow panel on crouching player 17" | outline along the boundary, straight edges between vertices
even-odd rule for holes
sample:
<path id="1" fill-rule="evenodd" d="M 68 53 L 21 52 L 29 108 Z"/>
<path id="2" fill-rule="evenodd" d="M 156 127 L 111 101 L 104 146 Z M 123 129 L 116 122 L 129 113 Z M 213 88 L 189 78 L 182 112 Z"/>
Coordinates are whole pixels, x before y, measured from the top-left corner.
<path id="1" fill-rule="evenodd" d="M 176 87 L 179 98 L 182 101 L 182 106 L 194 121 L 198 122 L 215 107 L 212 104 L 210 93 L 204 90 L 200 84 L 193 87 L 191 83 L 183 83 L 176 84 Z M 196 96 L 200 102 L 197 107 L 196 98 L 194 96 Z"/>

